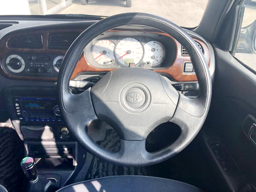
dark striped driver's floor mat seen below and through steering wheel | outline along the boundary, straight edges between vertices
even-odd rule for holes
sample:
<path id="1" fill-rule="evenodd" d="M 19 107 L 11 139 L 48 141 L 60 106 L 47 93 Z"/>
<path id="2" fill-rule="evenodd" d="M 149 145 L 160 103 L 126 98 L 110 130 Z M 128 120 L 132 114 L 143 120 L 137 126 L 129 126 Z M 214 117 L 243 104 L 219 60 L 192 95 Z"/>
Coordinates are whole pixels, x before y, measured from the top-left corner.
<path id="1" fill-rule="evenodd" d="M 98 144 L 112 152 L 116 152 L 120 148 L 120 138 L 116 131 L 110 128 L 107 124 L 106 129 L 105 139 L 98 142 Z M 85 180 L 121 175 L 142 175 L 168 178 L 168 173 L 168 169 L 164 168 L 162 164 L 146 167 L 124 167 L 110 164 L 94 156 Z"/>

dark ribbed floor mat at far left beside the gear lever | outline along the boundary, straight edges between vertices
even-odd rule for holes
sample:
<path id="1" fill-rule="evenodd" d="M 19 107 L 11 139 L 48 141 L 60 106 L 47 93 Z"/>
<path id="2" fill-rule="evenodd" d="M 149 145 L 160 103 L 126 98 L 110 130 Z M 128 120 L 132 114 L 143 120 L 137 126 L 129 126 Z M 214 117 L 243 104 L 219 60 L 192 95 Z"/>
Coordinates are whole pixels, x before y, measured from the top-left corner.
<path id="1" fill-rule="evenodd" d="M 0 184 L 8 192 L 26 191 L 20 161 L 24 157 L 23 142 L 13 128 L 0 126 Z"/>

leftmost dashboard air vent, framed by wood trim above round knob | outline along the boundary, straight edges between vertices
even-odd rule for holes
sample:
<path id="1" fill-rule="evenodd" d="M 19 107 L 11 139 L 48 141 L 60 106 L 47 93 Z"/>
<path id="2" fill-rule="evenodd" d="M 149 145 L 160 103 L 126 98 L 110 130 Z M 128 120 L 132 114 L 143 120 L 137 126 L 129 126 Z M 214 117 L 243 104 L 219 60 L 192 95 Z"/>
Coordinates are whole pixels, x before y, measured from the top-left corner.
<path id="1" fill-rule="evenodd" d="M 41 49 L 43 48 L 43 36 L 41 34 L 32 34 L 11 38 L 8 41 L 10 48 L 22 49 Z"/>

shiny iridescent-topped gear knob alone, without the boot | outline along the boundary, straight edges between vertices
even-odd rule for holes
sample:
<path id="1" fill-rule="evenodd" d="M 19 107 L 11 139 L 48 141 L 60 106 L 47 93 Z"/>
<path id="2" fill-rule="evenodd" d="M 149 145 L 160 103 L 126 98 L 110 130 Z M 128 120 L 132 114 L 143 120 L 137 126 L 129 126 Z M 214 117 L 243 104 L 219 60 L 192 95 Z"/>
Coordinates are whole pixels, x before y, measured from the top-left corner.
<path id="1" fill-rule="evenodd" d="M 37 169 L 36 169 L 34 158 L 25 157 L 22 159 L 20 165 L 30 182 L 36 182 L 38 180 Z"/>

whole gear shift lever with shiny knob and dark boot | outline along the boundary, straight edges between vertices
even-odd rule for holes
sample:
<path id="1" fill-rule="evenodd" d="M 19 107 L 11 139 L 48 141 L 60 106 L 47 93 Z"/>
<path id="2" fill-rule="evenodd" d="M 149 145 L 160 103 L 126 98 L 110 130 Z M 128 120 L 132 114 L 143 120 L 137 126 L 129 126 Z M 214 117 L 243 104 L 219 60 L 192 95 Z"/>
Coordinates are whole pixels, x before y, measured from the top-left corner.
<path id="1" fill-rule="evenodd" d="M 56 183 L 44 176 L 37 175 L 35 160 L 32 157 L 22 159 L 21 168 L 29 180 L 28 192 L 54 192 L 58 190 Z"/>

